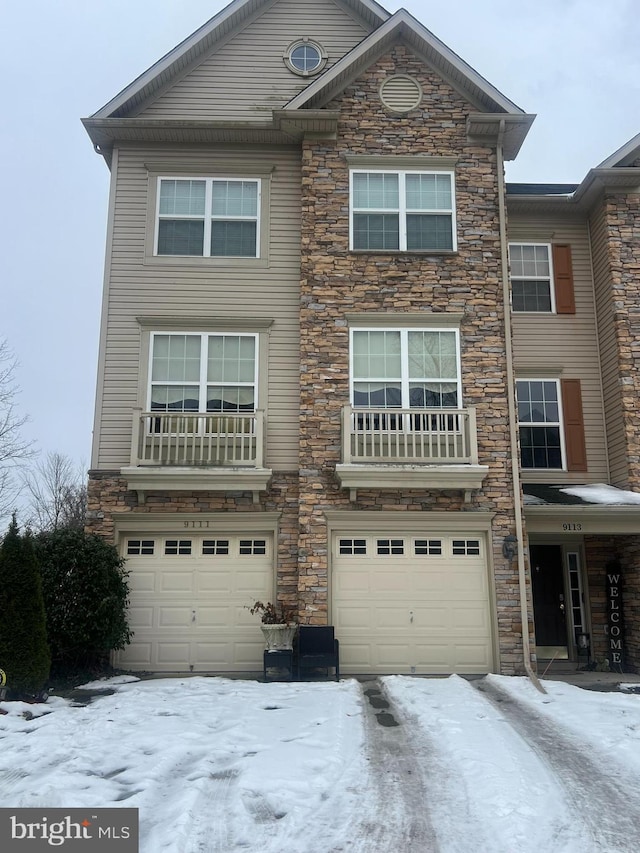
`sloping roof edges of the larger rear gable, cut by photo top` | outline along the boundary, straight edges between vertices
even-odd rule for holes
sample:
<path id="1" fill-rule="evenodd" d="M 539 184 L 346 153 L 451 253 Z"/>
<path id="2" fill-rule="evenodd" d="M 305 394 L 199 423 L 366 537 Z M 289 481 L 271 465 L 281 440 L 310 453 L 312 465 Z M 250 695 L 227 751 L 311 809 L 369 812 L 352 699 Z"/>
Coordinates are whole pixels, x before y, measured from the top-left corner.
<path id="1" fill-rule="evenodd" d="M 389 12 L 375 0 L 341 0 L 372 28 L 389 18 Z M 135 112 L 155 94 L 163 91 L 187 69 L 200 62 L 216 44 L 258 17 L 273 0 L 233 0 L 221 12 L 154 63 L 91 118 L 123 118 Z"/>

